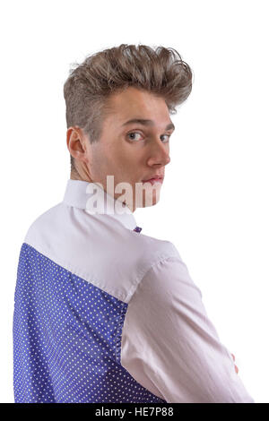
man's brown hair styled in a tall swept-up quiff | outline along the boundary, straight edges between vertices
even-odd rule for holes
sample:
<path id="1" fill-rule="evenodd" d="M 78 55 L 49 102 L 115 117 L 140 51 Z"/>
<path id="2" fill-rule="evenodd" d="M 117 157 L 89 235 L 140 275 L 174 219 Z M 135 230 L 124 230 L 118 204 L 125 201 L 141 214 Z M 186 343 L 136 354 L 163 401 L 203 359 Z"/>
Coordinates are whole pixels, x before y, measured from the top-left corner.
<path id="1" fill-rule="evenodd" d="M 100 139 L 112 93 L 129 86 L 147 90 L 165 100 L 169 114 L 176 114 L 192 90 L 192 71 L 174 48 L 121 44 L 72 65 L 64 85 L 66 125 L 78 125 L 91 143 Z M 72 155 L 70 163 L 75 171 Z"/>

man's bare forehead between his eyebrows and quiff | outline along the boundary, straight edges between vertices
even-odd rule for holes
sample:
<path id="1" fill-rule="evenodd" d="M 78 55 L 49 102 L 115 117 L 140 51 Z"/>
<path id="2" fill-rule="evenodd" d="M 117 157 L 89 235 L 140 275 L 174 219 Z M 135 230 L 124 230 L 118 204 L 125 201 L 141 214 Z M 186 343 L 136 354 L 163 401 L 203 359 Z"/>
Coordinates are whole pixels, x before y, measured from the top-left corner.
<path id="1" fill-rule="evenodd" d="M 131 118 L 169 122 L 169 109 L 163 98 L 146 90 L 128 87 L 108 98 L 108 120 L 124 123 Z"/>

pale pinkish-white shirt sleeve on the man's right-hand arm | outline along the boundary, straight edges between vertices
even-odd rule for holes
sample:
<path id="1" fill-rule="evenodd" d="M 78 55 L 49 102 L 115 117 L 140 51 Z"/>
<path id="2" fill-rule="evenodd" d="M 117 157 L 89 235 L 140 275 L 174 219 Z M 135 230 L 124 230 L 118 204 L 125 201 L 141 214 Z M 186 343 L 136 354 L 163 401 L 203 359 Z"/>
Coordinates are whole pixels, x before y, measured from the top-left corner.
<path id="1" fill-rule="evenodd" d="M 167 402 L 255 403 L 180 257 L 155 263 L 143 276 L 121 343 L 121 364 Z"/>

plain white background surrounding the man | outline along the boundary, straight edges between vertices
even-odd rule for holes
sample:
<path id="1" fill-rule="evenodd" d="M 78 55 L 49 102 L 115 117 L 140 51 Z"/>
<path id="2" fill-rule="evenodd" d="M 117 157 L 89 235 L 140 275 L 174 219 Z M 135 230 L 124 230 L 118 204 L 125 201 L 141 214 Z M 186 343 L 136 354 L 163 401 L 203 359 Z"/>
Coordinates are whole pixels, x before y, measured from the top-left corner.
<path id="1" fill-rule="evenodd" d="M 269 402 L 267 1 L 1 3 L 1 402 L 13 402 L 13 294 L 23 238 L 70 176 L 63 84 L 121 43 L 176 48 L 193 91 L 171 116 L 161 202 L 134 212 L 178 247 L 256 402 Z M 217 369 L 217 367 L 216 367 Z"/>

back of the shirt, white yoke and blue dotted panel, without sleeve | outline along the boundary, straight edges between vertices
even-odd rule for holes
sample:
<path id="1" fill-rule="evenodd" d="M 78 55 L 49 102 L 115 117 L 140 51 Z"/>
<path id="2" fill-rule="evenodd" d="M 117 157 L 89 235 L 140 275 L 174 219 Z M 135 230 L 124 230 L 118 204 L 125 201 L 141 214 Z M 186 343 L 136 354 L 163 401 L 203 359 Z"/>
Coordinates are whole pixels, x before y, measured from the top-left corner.
<path id="1" fill-rule="evenodd" d="M 152 262 L 176 253 L 134 231 L 131 215 L 84 209 L 88 183 L 30 226 L 13 316 L 15 402 L 165 402 L 121 365 L 129 300 Z"/>

